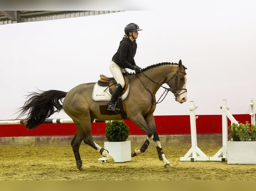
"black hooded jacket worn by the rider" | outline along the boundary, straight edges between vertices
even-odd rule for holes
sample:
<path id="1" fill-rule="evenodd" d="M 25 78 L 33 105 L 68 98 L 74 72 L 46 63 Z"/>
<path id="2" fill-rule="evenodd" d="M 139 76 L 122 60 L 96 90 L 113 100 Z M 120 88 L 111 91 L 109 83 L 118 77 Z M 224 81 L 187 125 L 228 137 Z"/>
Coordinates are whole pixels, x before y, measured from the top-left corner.
<path id="1" fill-rule="evenodd" d="M 120 45 L 116 54 L 114 54 L 112 61 L 114 61 L 118 66 L 121 68 L 129 68 L 134 70 L 135 61 L 134 56 L 137 50 L 137 43 L 136 40 L 133 42 L 129 38 L 123 38 L 120 41 Z"/>

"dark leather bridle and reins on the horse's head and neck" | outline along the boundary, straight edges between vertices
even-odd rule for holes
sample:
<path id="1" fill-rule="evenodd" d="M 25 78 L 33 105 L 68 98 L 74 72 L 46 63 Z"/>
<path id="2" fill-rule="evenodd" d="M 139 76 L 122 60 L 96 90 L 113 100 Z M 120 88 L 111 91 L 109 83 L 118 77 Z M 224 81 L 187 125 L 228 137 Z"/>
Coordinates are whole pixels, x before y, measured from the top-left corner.
<path id="1" fill-rule="evenodd" d="M 137 78 L 139 79 L 139 81 L 143 84 L 143 86 L 145 87 L 145 89 L 151 94 L 152 100 L 153 100 L 152 102 L 153 102 L 154 104 L 161 103 L 161 102 L 164 100 L 164 98 L 166 97 L 166 95 L 168 94 L 168 92 L 173 93 L 173 95 L 175 96 L 174 99 L 175 99 L 176 97 L 180 96 L 181 94 L 184 94 L 185 92 L 187 92 L 187 89 L 185 89 L 185 88 L 177 88 L 178 73 L 182 73 L 182 74 L 185 74 L 185 75 L 186 75 L 185 72 L 182 72 L 182 71 L 179 71 L 179 70 L 178 70 L 178 71 L 176 72 L 176 74 L 175 74 L 168 82 L 166 82 L 166 84 L 168 84 L 174 77 L 176 77 L 176 78 L 175 78 L 175 84 L 174 84 L 174 90 L 171 90 L 170 88 L 163 87 L 162 85 L 158 84 L 157 82 L 155 82 L 155 81 L 153 81 L 151 78 L 149 78 L 147 75 L 145 75 L 142 71 L 140 71 L 140 73 L 143 74 L 147 79 L 149 79 L 149 80 L 152 81 L 153 83 L 157 84 L 159 87 L 162 87 L 163 89 L 165 89 L 164 93 L 166 93 L 166 94 L 164 95 L 164 93 L 163 93 L 163 94 L 160 96 L 160 98 L 158 99 L 158 101 L 155 101 L 155 100 L 153 99 L 153 95 L 152 95 L 152 93 L 150 92 L 150 90 L 149 90 L 149 89 L 147 88 L 147 86 L 139 79 L 137 73 L 135 73 L 136 77 L 137 77 Z M 168 86 L 169 86 L 169 85 L 168 85 Z M 179 92 L 180 92 L 181 90 L 185 90 L 185 91 L 182 92 L 181 94 L 179 94 Z M 164 95 L 163 99 L 162 99 L 161 101 L 159 101 L 163 95 Z"/>

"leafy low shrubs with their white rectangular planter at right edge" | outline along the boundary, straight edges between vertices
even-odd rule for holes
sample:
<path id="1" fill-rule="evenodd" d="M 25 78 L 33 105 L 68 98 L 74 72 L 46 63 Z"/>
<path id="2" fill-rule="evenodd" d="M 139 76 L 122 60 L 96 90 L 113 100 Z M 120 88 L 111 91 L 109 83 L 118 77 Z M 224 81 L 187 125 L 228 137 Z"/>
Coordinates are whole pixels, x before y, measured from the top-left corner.
<path id="1" fill-rule="evenodd" d="M 256 125 L 232 123 L 232 140 L 227 143 L 228 164 L 256 164 Z"/>

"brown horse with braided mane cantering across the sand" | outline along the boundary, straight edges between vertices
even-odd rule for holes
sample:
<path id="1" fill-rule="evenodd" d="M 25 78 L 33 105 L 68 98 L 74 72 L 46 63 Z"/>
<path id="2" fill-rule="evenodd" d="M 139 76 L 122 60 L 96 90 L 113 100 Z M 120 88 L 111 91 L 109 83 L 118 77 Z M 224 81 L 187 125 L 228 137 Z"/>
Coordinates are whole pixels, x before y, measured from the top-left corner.
<path id="1" fill-rule="evenodd" d="M 95 119 L 131 120 L 147 134 L 147 139 L 141 148 L 134 149 L 131 156 L 135 157 L 145 152 L 150 141 L 153 140 L 159 160 L 164 163 L 163 166 L 165 168 L 171 168 L 170 162 L 164 155 L 156 130 L 153 112 L 158 102 L 155 94 L 162 87 L 167 93 L 173 93 L 175 101 L 179 103 L 185 102 L 187 100 L 186 69 L 181 60 L 179 60 L 178 64 L 158 63 L 141 69 L 139 72 L 129 73 L 129 93 L 121 101 L 123 113 L 102 114 L 100 112 L 100 105 L 106 106 L 109 101 L 93 100 L 92 94 L 96 84 L 94 82 L 80 84 L 69 92 L 58 90 L 32 92 L 27 95 L 24 105 L 19 108 L 18 113 L 20 112 L 20 114 L 18 117 L 26 116 L 24 119 L 25 127 L 34 129 L 53 113 L 63 109 L 73 119 L 77 127 L 77 132 L 71 141 L 71 145 L 79 170 L 89 168 L 89 166 L 83 164 L 79 153 L 82 141 L 106 157 L 106 162 L 115 163 L 109 152 L 93 140 L 91 125 Z M 165 83 L 169 88 L 162 86 Z"/>

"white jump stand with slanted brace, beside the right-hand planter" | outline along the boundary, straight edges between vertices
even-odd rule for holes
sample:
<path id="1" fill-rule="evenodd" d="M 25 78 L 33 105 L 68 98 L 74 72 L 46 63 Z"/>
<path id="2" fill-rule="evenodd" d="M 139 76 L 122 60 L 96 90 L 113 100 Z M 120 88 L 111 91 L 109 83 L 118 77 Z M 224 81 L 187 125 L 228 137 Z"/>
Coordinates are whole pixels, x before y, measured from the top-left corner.
<path id="1" fill-rule="evenodd" d="M 222 148 L 213 156 L 210 157 L 210 161 L 227 161 L 227 142 L 228 142 L 228 118 L 232 123 L 237 123 L 237 120 L 229 112 L 227 107 L 227 100 L 222 100 Z M 222 155 L 221 155 L 222 154 Z"/>

